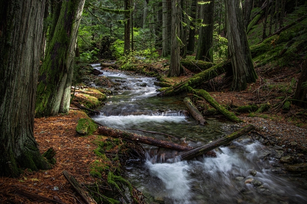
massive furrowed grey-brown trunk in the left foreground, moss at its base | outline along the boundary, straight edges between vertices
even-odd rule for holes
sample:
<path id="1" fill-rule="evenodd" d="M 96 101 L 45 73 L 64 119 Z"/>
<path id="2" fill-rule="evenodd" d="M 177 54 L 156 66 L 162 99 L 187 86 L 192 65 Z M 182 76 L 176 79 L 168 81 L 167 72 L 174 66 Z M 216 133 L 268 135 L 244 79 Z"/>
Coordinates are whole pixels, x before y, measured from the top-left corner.
<path id="1" fill-rule="evenodd" d="M 33 135 L 45 1 L 0 0 L 0 175 L 49 169 Z"/>

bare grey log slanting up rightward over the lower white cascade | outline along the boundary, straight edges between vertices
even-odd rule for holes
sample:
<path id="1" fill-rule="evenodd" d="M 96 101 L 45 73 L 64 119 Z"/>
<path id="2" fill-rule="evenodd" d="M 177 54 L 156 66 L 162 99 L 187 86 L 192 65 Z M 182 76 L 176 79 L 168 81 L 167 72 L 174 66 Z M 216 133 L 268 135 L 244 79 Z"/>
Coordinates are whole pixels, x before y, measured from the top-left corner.
<path id="1" fill-rule="evenodd" d="M 237 139 L 238 137 L 252 131 L 255 129 L 255 126 L 253 125 L 248 125 L 245 126 L 244 128 L 238 130 L 237 132 L 234 132 L 230 135 L 227 135 L 225 137 L 222 137 L 218 140 L 215 140 L 211 143 L 205 144 L 203 146 L 197 147 L 195 149 L 191 149 L 185 152 L 181 153 L 182 159 L 188 160 L 195 158 L 196 156 L 202 155 L 212 149 L 215 149 L 216 147 L 219 147 L 221 145 L 228 144 L 229 142 L 233 141 L 234 139 Z"/>

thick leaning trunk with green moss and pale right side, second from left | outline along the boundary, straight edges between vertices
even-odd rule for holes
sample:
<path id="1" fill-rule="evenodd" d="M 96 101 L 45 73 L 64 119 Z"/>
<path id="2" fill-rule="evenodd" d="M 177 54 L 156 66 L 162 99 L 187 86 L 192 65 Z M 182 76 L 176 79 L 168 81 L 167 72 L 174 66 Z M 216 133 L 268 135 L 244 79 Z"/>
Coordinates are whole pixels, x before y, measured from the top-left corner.
<path id="1" fill-rule="evenodd" d="M 76 38 L 85 0 L 61 2 L 60 15 L 39 70 L 36 117 L 52 116 L 69 110 L 70 87 Z M 53 26 L 51 26 L 53 27 Z"/>

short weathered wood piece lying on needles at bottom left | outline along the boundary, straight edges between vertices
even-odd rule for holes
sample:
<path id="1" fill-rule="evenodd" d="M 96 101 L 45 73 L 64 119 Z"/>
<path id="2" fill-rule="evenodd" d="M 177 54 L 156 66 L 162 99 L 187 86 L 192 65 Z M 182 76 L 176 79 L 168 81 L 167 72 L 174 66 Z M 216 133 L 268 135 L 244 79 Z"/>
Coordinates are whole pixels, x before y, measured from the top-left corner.
<path id="1" fill-rule="evenodd" d="M 76 192 L 82 197 L 86 204 L 97 204 L 97 202 L 89 195 L 87 191 L 85 191 L 81 184 L 74 178 L 73 175 L 68 173 L 67 171 L 63 171 L 63 175 L 66 180 L 72 185 Z"/>

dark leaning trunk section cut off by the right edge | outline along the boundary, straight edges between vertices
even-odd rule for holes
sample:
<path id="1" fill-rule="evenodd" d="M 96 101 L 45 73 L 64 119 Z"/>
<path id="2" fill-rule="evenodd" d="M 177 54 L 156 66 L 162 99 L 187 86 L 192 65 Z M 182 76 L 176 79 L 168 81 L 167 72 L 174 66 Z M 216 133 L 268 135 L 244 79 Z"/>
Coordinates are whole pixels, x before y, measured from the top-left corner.
<path id="1" fill-rule="evenodd" d="M 307 60 L 303 63 L 293 98 L 298 100 L 293 100 L 293 104 L 307 108 Z"/>

